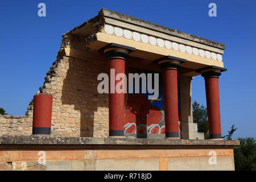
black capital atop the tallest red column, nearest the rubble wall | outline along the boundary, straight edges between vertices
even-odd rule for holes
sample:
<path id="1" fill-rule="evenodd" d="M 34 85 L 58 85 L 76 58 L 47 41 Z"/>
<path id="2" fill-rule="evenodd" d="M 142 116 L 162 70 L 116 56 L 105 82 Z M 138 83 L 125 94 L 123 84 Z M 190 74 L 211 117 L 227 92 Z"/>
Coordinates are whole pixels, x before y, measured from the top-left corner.
<path id="1" fill-rule="evenodd" d="M 98 53 L 104 53 L 108 59 L 123 59 L 125 60 L 129 53 L 135 51 L 134 47 L 124 46 L 121 44 L 110 43 L 100 49 Z"/>

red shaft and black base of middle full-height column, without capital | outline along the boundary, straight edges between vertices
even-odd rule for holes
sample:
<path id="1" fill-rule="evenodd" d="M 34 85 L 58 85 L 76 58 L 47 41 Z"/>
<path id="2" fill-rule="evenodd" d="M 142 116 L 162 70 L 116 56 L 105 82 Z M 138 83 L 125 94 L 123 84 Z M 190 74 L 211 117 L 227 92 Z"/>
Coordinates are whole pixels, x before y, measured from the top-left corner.
<path id="1" fill-rule="evenodd" d="M 179 138 L 177 70 L 163 70 L 164 119 L 166 138 Z"/>

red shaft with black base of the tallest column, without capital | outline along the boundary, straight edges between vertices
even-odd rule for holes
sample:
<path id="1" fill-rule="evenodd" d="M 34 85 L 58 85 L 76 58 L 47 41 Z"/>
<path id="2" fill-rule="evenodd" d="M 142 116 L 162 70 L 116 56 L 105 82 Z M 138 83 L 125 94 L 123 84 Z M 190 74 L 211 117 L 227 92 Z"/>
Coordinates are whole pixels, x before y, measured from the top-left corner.
<path id="1" fill-rule="evenodd" d="M 114 71 L 114 78 L 109 75 L 109 136 L 123 136 L 125 93 L 115 91 L 115 86 L 119 82 L 115 80 L 115 76 L 118 73 L 125 74 L 125 60 L 109 59 L 109 68 Z"/>

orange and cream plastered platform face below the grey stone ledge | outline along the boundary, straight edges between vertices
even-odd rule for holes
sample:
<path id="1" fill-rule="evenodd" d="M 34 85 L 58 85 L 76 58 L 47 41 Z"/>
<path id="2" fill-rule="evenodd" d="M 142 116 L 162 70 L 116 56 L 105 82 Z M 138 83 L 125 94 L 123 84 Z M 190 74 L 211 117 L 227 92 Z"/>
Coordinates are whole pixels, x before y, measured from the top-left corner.
<path id="1" fill-rule="evenodd" d="M 62 149 L 62 148 L 61 148 Z M 210 165 L 208 149 L 102 149 L 46 150 L 46 164 L 38 164 L 38 149 L 0 151 L 18 159 L 0 160 L 1 171 L 234 171 L 233 149 L 218 148 L 217 164 Z M 9 153 L 8 153 L 9 152 Z M 27 152 L 27 153 L 26 153 Z M 28 155 L 30 154 L 30 155 Z M 27 157 L 27 158 L 25 158 Z"/>

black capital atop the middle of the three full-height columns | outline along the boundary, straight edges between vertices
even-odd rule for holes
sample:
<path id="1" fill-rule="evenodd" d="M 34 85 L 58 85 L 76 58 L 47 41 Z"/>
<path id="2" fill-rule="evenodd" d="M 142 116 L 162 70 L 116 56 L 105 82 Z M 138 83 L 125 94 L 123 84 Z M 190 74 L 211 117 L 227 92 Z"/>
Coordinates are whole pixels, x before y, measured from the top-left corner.
<path id="1" fill-rule="evenodd" d="M 161 69 L 178 69 L 180 64 L 187 62 L 185 59 L 174 56 L 164 56 L 153 63 L 158 64 Z"/>

